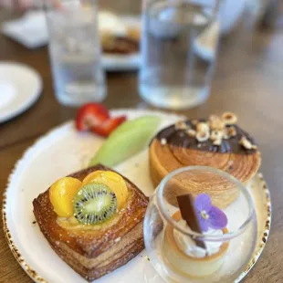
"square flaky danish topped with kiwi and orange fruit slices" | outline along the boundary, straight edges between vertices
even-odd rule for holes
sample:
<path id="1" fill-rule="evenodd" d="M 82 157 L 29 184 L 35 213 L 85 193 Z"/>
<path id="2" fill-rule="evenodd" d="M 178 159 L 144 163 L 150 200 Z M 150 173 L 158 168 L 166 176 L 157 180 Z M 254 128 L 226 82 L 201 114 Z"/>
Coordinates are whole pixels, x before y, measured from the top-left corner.
<path id="1" fill-rule="evenodd" d="M 102 165 L 58 180 L 33 201 L 50 246 L 89 281 L 142 251 L 147 204 L 133 183 Z"/>

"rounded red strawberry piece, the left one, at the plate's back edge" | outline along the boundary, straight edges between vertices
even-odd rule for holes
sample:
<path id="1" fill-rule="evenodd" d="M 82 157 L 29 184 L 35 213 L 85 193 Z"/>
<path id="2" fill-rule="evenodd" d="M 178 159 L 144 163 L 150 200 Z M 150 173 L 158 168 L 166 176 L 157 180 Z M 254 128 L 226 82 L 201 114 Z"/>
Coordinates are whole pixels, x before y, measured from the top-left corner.
<path id="1" fill-rule="evenodd" d="M 109 111 L 101 104 L 88 103 L 79 109 L 76 118 L 78 131 L 86 131 L 110 119 Z"/>

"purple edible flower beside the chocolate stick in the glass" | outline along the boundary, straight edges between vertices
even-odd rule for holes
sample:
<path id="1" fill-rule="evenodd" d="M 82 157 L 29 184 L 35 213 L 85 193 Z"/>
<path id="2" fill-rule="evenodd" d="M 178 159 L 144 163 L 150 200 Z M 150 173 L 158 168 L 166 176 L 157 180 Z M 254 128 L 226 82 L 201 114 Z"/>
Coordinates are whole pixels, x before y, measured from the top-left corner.
<path id="1" fill-rule="evenodd" d="M 213 206 L 208 194 L 199 194 L 194 201 L 194 207 L 203 232 L 208 228 L 223 229 L 227 225 L 225 213 L 218 207 Z"/>

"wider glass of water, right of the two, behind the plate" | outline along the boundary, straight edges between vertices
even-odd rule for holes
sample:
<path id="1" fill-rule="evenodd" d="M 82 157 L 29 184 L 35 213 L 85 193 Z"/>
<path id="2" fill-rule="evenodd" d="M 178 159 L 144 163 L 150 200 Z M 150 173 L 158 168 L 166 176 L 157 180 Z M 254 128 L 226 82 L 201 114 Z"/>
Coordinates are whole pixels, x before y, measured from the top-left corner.
<path id="1" fill-rule="evenodd" d="M 155 107 L 181 110 L 209 96 L 219 37 L 218 0 L 143 0 L 139 90 Z"/>

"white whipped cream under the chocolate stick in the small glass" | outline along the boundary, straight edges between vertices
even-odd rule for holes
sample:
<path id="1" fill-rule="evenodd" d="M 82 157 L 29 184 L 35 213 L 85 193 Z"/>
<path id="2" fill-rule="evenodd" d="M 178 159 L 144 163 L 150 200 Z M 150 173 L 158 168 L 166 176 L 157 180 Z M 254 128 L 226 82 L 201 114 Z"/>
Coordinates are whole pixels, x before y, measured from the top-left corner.
<path id="1" fill-rule="evenodd" d="M 183 228 L 190 229 L 190 227 L 186 224 L 186 222 L 182 219 L 179 221 L 179 224 L 183 226 Z M 191 229 L 190 229 L 191 230 Z M 214 230 L 208 229 L 208 231 L 203 233 L 207 236 L 221 236 L 223 235 L 222 230 Z M 212 256 L 219 252 L 220 246 L 222 246 L 222 242 L 204 242 L 206 249 L 196 246 L 194 240 L 190 236 L 183 235 L 183 233 L 178 230 L 173 230 L 173 237 L 177 244 L 177 246 L 190 257 L 198 257 L 202 258 L 207 256 Z"/>

